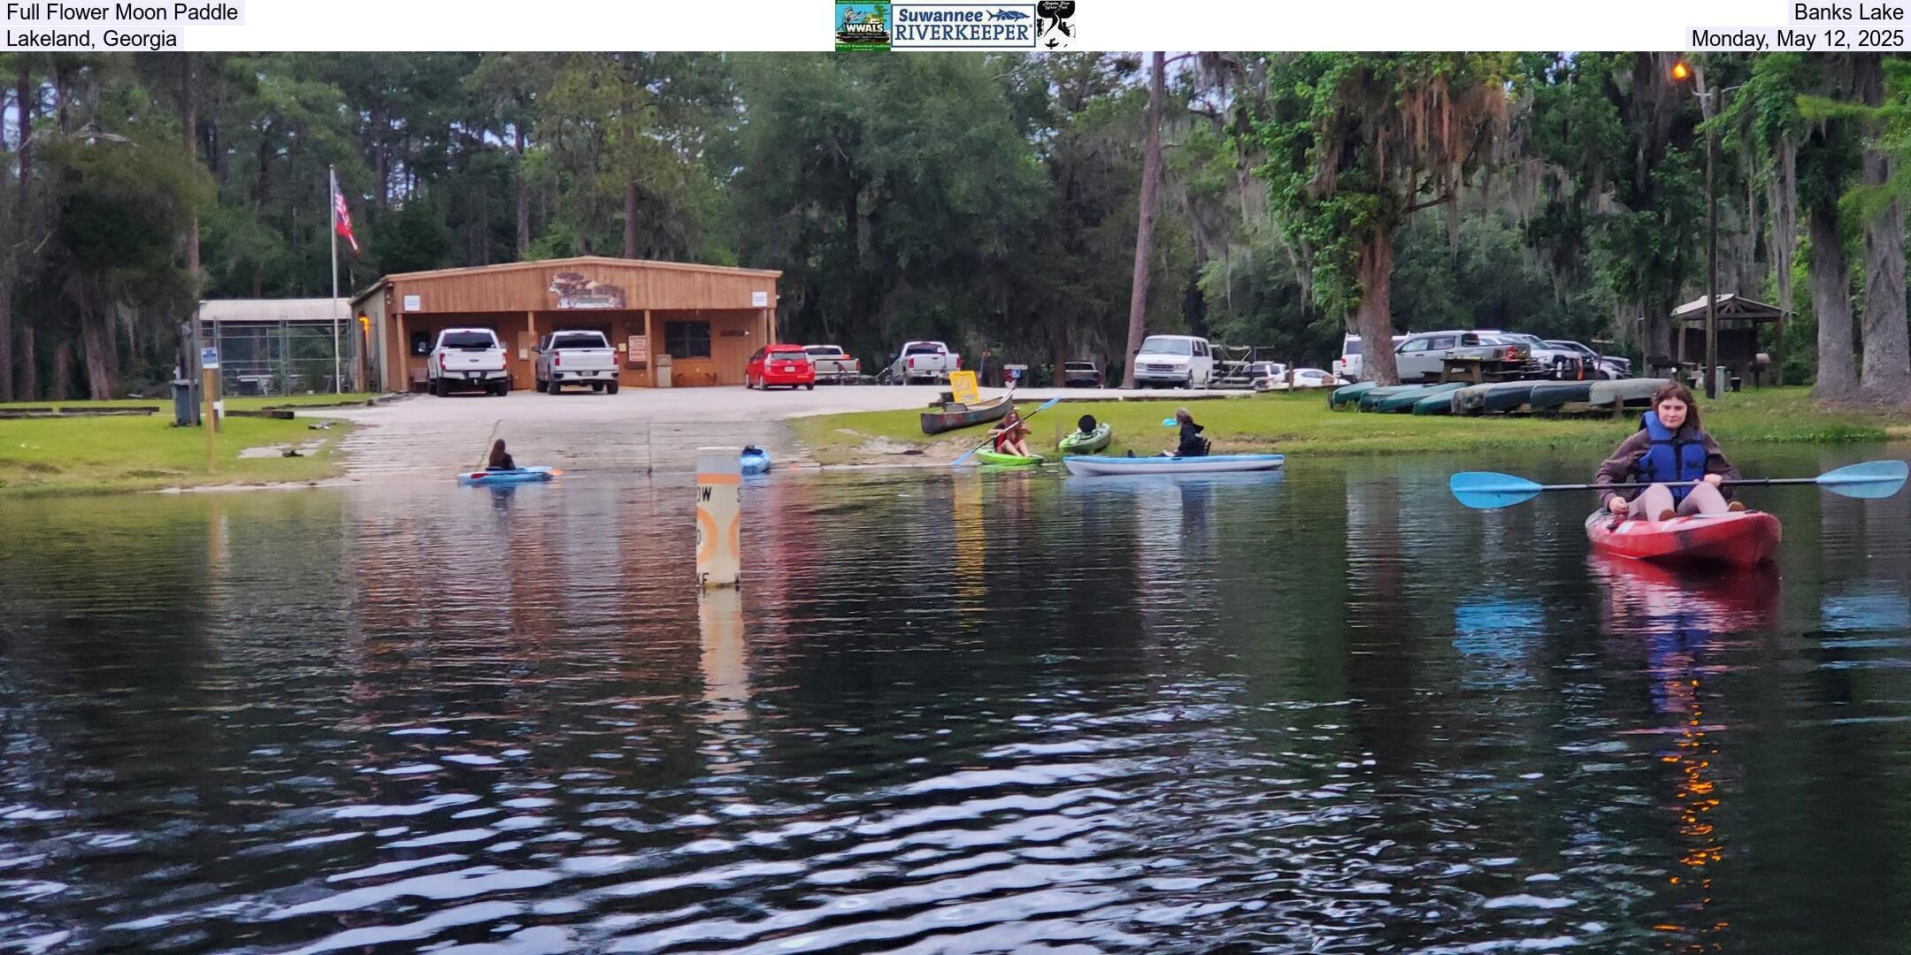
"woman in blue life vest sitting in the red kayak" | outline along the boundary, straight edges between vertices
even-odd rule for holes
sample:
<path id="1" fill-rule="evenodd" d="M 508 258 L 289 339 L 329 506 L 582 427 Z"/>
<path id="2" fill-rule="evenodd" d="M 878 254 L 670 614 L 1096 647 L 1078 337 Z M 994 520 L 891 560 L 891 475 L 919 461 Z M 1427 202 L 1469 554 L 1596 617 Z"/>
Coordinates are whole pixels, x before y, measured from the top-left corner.
<path id="1" fill-rule="evenodd" d="M 1605 510 L 1632 520 L 1668 521 L 1684 514 L 1724 514 L 1745 510 L 1728 499 L 1720 481 L 1739 478 L 1739 470 L 1718 451 L 1712 435 L 1699 426 L 1699 407 L 1682 384 L 1668 384 L 1653 395 L 1653 409 L 1640 414 L 1640 430 L 1619 443 L 1600 464 L 1598 483 L 1642 483 L 1638 491 L 1607 491 Z M 1676 481 L 1695 485 L 1666 487 Z"/>

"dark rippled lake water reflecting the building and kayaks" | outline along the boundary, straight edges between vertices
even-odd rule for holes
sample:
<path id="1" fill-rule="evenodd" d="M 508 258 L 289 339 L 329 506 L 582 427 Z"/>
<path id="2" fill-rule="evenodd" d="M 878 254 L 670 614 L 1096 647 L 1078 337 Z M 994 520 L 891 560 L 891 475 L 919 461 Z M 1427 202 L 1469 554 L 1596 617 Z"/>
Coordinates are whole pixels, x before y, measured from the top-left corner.
<path id="1" fill-rule="evenodd" d="M 8 502 L 0 949 L 1905 951 L 1911 500 L 1594 464 Z"/>

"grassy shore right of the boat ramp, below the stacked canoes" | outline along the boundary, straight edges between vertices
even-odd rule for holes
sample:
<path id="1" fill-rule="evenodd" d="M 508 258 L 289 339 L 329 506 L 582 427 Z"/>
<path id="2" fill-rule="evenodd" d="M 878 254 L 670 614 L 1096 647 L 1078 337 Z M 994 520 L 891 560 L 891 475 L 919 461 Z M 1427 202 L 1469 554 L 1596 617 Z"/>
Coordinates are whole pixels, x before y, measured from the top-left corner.
<path id="1" fill-rule="evenodd" d="M 1028 413 L 1036 401 L 1019 403 Z M 1607 449 L 1638 428 L 1638 416 L 1487 414 L 1414 416 L 1328 411 L 1326 392 L 1254 395 L 1227 401 L 1189 401 L 1215 453 L 1305 451 L 1311 455 L 1384 455 L 1424 451 L 1504 449 Z M 1171 401 L 1064 401 L 1034 418 L 1030 451 L 1057 458 L 1057 428 L 1074 430 L 1076 418 L 1093 414 L 1114 426 L 1108 455 L 1154 455 L 1173 445 L 1162 426 Z M 1701 399 L 1708 432 L 1728 449 L 1754 441 L 1884 441 L 1911 437 L 1903 416 L 1867 409 L 1829 409 L 1812 401 L 1806 388 L 1766 388 Z M 870 464 L 952 460 L 988 435 L 984 426 L 925 435 L 917 411 L 818 414 L 791 422 L 820 464 Z M 919 456 L 913 456 L 919 455 Z"/>

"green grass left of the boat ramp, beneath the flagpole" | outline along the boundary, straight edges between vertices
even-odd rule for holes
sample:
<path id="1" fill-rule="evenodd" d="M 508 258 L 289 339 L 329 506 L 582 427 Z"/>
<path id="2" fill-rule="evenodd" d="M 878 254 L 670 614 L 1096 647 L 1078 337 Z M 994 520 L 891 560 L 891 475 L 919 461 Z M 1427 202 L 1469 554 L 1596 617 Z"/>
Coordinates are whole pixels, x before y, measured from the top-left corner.
<path id="1" fill-rule="evenodd" d="M 134 401 L 138 403 L 138 401 Z M 0 420 L 0 497 L 157 491 L 225 483 L 313 481 L 340 474 L 344 422 L 225 418 L 206 470 L 206 437 L 170 414 Z M 239 458 L 248 447 L 323 441 L 310 456 Z"/>

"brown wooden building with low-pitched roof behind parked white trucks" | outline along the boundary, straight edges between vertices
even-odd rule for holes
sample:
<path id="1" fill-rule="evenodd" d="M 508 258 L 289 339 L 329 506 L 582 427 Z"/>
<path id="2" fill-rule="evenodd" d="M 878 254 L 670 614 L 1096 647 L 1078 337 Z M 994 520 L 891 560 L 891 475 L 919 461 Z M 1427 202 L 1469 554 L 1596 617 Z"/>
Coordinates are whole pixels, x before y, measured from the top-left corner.
<path id="1" fill-rule="evenodd" d="M 743 365 L 776 342 L 780 271 L 558 258 L 386 275 L 352 298 L 367 376 L 388 392 L 424 380 L 441 329 L 491 329 L 512 388 L 531 388 L 531 348 L 554 330 L 600 330 L 617 348 L 619 384 L 743 384 Z M 671 380 L 659 378 L 669 367 Z"/>

